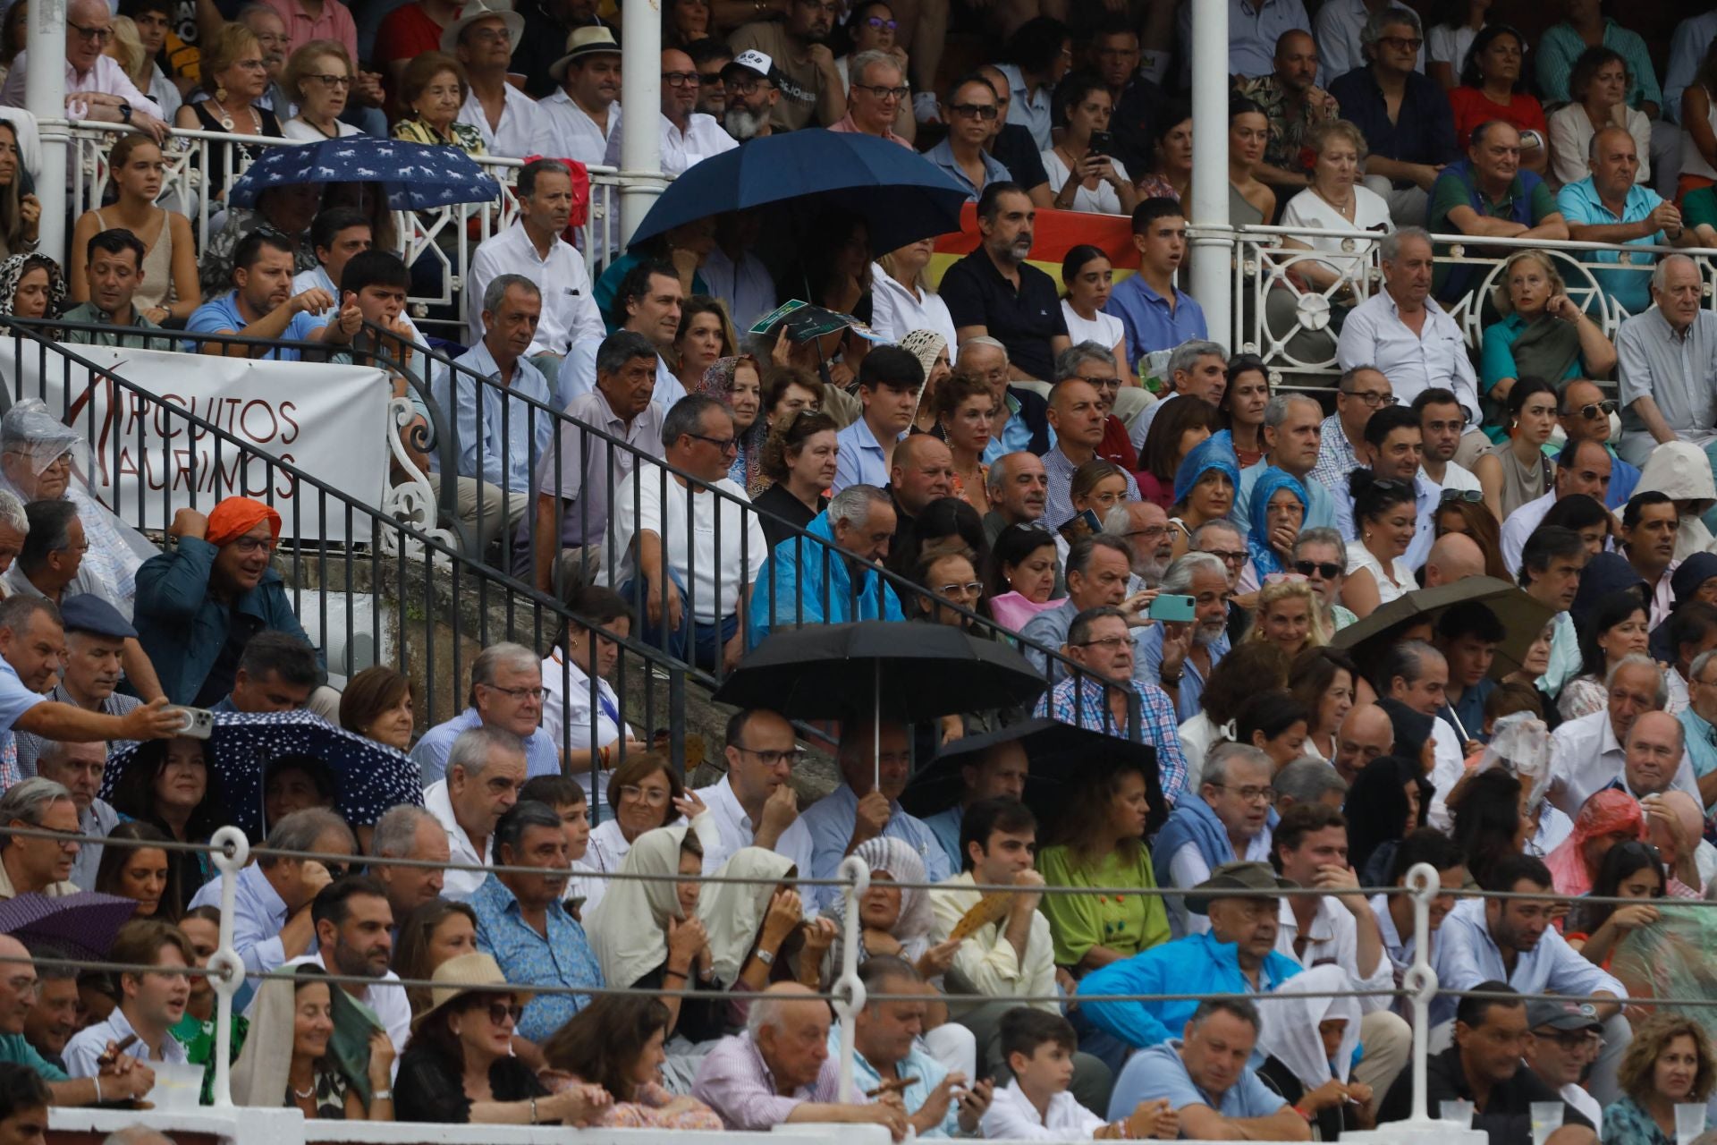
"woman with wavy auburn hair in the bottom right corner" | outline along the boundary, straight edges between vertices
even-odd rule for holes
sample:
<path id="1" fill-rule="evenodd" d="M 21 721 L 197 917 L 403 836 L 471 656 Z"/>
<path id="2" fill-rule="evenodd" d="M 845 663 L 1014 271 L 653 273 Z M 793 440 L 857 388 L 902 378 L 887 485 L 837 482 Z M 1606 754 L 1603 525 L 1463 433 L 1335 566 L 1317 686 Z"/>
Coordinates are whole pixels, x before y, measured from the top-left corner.
<path id="1" fill-rule="evenodd" d="M 1671 1145 L 1676 1106 L 1703 1106 L 1712 1095 L 1712 1044 L 1695 1018 L 1657 1013 L 1633 1030 L 1616 1068 L 1623 1097 L 1604 1109 L 1604 1140 L 1616 1145 Z"/>

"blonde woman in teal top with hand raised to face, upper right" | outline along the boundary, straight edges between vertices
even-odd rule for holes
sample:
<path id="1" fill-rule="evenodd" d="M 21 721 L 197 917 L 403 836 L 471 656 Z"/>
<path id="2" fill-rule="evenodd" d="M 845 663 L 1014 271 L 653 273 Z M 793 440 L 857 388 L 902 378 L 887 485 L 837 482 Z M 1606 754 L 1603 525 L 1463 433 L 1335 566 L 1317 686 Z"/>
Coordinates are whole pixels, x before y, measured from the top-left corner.
<path id="1" fill-rule="evenodd" d="M 1478 388 L 1485 397 L 1483 431 L 1508 439 L 1502 403 L 1520 378 L 1550 385 L 1568 378 L 1605 378 L 1616 369 L 1616 345 L 1568 297 L 1568 285 L 1544 251 L 1521 251 L 1502 264 L 1490 292 L 1501 321 L 1485 326 L 1478 352 Z"/>

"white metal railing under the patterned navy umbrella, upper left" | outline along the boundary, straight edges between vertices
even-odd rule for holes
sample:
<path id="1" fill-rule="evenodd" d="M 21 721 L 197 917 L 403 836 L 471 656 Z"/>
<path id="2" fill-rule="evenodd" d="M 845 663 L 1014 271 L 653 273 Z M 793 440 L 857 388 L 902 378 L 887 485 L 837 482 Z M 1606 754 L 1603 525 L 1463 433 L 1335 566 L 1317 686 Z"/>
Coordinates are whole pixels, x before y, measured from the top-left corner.
<path id="1" fill-rule="evenodd" d="M 70 204 L 72 216 L 91 206 L 101 204 L 101 196 L 108 184 L 108 153 L 113 141 L 129 129 L 118 124 L 100 124 L 79 120 L 70 125 Z M 197 249 L 208 247 L 209 237 L 218 232 L 225 208 L 209 194 L 206 172 L 209 160 L 220 158 L 227 172 L 227 185 L 244 173 L 251 165 L 251 148 L 294 148 L 302 146 L 294 139 L 275 139 L 268 136 L 237 136 L 227 132 L 173 129 L 163 148 L 161 158 L 167 163 L 158 203 L 180 211 L 191 220 Z M 416 268 L 424 257 L 440 268 L 441 288 L 436 294 L 412 295 L 410 306 L 416 318 L 424 318 L 429 307 L 446 307 L 460 299 L 460 288 L 470 270 L 470 256 L 484 239 L 500 230 L 507 230 L 519 218 L 519 203 L 513 197 L 513 184 L 519 179 L 522 160 L 503 156 L 476 156 L 482 170 L 494 177 L 501 187 L 501 197 L 493 204 L 453 204 L 428 211 L 393 211 L 393 227 L 400 242 L 400 256 L 407 266 Z M 620 177 L 611 167 L 592 167 L 591 172 L 591 211 L 584 227 L 579 228 L 579 249 L 584 254 L 591 280 L 613 259 L 613 245 L 618 228 L 611 220 L 618 220 L 620 211 Z M 67 227 L 70 233 L 70 227 Z M 453 321 L 464 328 L 464 314 Z M 464 335 L 455 335 L 464 342 Z"/>

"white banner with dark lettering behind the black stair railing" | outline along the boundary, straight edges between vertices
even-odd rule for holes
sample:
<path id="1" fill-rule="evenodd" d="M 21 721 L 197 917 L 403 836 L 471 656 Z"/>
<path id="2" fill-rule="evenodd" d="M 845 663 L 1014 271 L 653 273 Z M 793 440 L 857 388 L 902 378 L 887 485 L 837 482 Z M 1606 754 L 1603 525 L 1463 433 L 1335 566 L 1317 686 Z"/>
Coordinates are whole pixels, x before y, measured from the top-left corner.
<path id="1" fill-rule="evenodd" d="M 19 354 L 22 347 L 22 354 Z M 251 496 L 282 517 L 282 541 L 345 541 L 345 503 L 270 465 L 261 455 L 294 465 L 316 481 L 381 512 L 388 477 L 388 398 L 385 374 L 367 366 L 268 362 L 206 354 L 76 345 L 72 354 L 136 386 L 129 390 L 77 362 L 43 355 L 29 342 L 0 342 L 0 374 L 14 400 L 41 397 L 53 414 L 89 443 L 82 477 L 120 520 L 139 529 L 167 529 L 173 513 L 192 505 L 209 512 L 227 496 Z M 43 364 L 46 378 L 43 378 Z M 168 414 L 177 405 L 216 426 L 234 441 L 216 439 L 191 421 Z M 367 541 L 369 515 L 352 515 L 355 539 Z"/>

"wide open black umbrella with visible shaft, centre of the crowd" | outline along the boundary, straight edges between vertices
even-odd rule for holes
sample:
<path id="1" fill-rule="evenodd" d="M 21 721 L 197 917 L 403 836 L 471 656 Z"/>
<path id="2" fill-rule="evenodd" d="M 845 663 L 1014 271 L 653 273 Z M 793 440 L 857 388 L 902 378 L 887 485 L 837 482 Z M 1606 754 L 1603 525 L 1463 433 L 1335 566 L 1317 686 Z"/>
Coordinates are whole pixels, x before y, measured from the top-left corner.
<path id="1" fill-rule="evenodd" d="M 869 620 L 771 632 L 711 699 L 788 719 L 869 714 L 881 724 L 1011 707 L 1042 690 L 1042 673 L 1011 645 L 953 625 Z"/>

